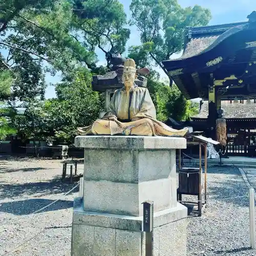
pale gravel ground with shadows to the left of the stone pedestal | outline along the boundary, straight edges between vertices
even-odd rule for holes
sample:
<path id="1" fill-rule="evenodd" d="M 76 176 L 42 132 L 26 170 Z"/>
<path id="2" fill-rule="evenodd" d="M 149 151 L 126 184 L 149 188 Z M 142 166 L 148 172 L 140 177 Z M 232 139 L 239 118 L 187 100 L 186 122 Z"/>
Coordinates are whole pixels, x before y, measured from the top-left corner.
<path id="1" fill-rule="evenodd" d="M 72 207 L 78 188 L 63 196 L 76 183 L 62 182 L 61 174 L 60 160 L 0 159 L 1 256 L 70 255 Z M 56 199 L 61 201 L 31 215 Z"/>

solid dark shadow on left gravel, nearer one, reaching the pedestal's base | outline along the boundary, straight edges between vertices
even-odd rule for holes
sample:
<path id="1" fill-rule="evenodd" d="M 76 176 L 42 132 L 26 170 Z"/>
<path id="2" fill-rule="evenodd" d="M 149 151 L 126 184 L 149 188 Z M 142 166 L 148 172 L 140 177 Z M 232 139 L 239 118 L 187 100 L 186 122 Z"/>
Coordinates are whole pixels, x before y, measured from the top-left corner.
<path id="1" fill-rule="evenodd" d="M 51 204 L 52 202 L 54 202 L 54 200 L 50 199 L 28 199 L 23 201 L 7 202 L 0 205 L 0 212 L 7 212 L 8 214 L 18 216 L 29 215 L 34 211 Z M 59 200 L 39 212 L 68 209 L 71 207 L 73 207 L 73 201 Z"/>

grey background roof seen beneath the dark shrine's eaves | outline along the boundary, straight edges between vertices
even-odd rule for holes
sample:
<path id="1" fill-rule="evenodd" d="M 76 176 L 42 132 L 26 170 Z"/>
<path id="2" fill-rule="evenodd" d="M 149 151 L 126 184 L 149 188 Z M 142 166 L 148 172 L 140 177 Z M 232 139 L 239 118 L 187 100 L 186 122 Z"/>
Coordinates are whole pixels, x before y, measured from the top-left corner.
<path id="1" fill-rule="evenodd" d="M 246 103 L 230 103 L 230 101 L 221 101 L 221 109 L 225 118 L 256 118 L 256 103 L 251 100 L 250 104 Z M 203 105 L 199 114 L 194 118 L 207 118 L 208 116 L 208 101 L 203 101 Z"/>

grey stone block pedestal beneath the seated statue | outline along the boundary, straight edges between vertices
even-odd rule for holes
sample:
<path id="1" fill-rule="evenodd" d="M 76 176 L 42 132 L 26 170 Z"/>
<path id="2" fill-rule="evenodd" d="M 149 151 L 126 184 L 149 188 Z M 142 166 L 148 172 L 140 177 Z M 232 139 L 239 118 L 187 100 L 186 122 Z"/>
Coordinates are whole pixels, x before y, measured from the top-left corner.
<path id="1" fill-rule="evenodd" d="M 142 202 L 154 201 L 154 254 L 186 255 L 187 208 L 177 203 L 175 150 L 184 138 L 78 136 L 83 198 L 76 198 L 72 256 L 145 255 Z"/>

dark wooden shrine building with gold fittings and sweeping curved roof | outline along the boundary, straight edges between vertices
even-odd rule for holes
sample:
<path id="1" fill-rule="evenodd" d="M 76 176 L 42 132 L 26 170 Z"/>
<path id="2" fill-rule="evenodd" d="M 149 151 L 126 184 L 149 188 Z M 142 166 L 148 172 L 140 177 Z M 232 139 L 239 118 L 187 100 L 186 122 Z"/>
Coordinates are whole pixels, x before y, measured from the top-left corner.
<path id="1" fill-rule="evenodd" d="M 192 121 L 169 125 L 216 139 L 216 120 L 225 118 L 229 154 L 256 156 L 256 12 L 247 18 L 187 28 L 182 56 L 162 63 L 186 99 L 202 99 Z"/>

